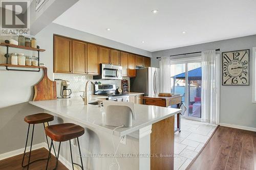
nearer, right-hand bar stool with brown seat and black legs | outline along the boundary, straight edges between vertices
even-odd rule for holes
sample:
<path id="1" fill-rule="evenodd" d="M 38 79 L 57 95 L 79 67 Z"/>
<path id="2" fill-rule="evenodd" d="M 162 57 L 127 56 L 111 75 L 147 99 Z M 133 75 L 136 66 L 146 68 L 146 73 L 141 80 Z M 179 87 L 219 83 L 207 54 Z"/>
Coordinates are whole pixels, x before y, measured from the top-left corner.
<path id="1" fill-rule="evenodd" d="M 78 165 L 83 170 L 81 150 L 80 150 L 80 145 L 79 145 L 78 137 L 84 134 L 84 128 L 82 128 L 79 125 L 75 125 L 75 124 L 71 124 L 71 123 L 66 123 L 66 124 L 50 125 L 50 126 L 46 127 L 45 132 L 46 132 L 46 135 L 51 138 L 51 147 L 50 147 L 50 150 L 49 150 L 49 156 L 48 156 L 48 161 L 47 161 L 46 169 L 48 167 L 48 163 L 49 163 L 49 159 L 50 159 L 50 155 L 51 155 L 51 149 L 52 149 L 52 145 L 53 145 L 53 140 L 59 142 L 56 166 L 55 166 L 54 169 L 57 169 L 57 167 L 58 167 L 58 159 L 59 159 L 59 151 L 60 151 L 60 144 L 61 144 L 61 142 L 69 140 L 71 162 L 72 162 L 73 170 L 74 170 L 74 164 Z M 77 138 L 81 165 L 79 165 L 77 163 L 73 163 L 72 149 L 71 149 L 71 139 L 75 139 L 75 138 Z"/>

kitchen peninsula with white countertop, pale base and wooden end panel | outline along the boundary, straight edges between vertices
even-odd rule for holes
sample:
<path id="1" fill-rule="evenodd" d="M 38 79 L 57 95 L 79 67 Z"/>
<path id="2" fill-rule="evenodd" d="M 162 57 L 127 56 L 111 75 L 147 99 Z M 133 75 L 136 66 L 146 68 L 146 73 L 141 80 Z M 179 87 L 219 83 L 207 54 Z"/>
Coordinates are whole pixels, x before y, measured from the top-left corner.
<path id="1" fill-rule="evenodd" d="M 179 113 L 180 109 L 135 105 L 136 119 L 133 120 L 133 126 L 113 131 L 115 127 L 105 125 L 104 109 L 97 105 L 84 106 L 80 98 L 29 103 L 53 114 L 55 116 L 53 124 L 70 122 L 86 129 L 80 143 L 82 159 L 87 169 L 109 169 L 113 162 L 110 154 L 114 153 L 112 139 L 115 149 L 119 144 L 117 154 L 122 156 L 117 160 L 121 169 L 167 169 L 167 167 L 169 169 L 170 166 L 171 169 L 173 168 L 174 115 Z M 163 136 L 166 132 L 170 134 Z M 119 143 L 122 136 L 126 138 L 125 144 Z M 152 140 L 155 142 L 153 148 Z M 56 142 L 55 145 L 57 147 Z M 63 144 L 62 147 L 60 153 L 62 161 L 69 162 L 69 145 Z M 76 147 L 75 142 L 74 147 Z M 162 148 L 168 152 L 162 152 Z M 160 154 L 167 154 L 168 157 L 159 157 Z M 78 157 L 74 159 L 78 160 Z M 69 166 L 69 163 L 66 163 L 66 166 Z"/>

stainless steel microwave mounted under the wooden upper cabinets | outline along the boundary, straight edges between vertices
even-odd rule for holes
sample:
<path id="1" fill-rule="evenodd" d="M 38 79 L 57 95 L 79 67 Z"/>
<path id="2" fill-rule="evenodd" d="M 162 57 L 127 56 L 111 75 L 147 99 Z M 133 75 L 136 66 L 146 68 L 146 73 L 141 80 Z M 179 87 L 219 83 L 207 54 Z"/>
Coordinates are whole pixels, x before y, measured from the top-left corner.
<path id="1" fill-rule="evenodd" d="M 122 66 L 112 64 L 100 64 L 100 75 L 93 79 L 120 80 L 122 79 Z"/>

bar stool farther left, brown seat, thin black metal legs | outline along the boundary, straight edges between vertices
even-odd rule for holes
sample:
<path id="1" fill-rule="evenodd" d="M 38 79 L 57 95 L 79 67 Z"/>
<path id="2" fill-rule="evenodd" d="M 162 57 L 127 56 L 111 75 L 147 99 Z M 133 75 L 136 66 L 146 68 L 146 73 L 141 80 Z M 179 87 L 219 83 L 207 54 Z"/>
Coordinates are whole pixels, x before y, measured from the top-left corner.
<path id="1" fill-rule="evenodd" d="M 39 160 L 46 160 L 46 159 L 49 159 L 49 158 L 44 158 L 44 159 L 37 159 L 37 160 L 34 160 L 32 162 L 30 162 L 30 157 L 31 157 L 31 149 L 32 149 L 32 143 L 33 143 L 33 136 L 34 136 L 34 127 L 35 127 L 35 124 L 44 124 L 44 129 L 46 128 L 45 127 L 45 123 L 47 123 L 47 125 L 49 126 L 49 122 L 51 122 L 52 120 L 54 119 L 53 115 L 51 114 L 47 114 L 47 113 L 37 113 L 37 114 L 32 114 L 32 115 L 28 115 L 28 116 L 25 116 L 24 118 L 24 121 L 27 122 L 29 124 L 29 127 L 28 127 L 28 133 L 27 133 L 27 139 L 26 139 L 26 145 L 25 145 L 25 150 L 24 150 L 24 154 L 23 154 L 23 160 L 22 160 L 22 167 L 27 167 L 27 169 L 29 169 L 29 165 L 35 161 L 39 161 Z M 28 137 L 29 137 L 29 128 L 30 128 L 30 125 L 33 124 L 33 130 L 32 130 L 32 137 L 31 137 L 31 144 L 30 144 L 30 152 L 29 152 L 29 155 L 26 154 L 26 149 L 27 149 L 27 143 L 28 143 Z M 46 140 L 47 140 L 47 144 L 48 144 L 48 148 L 50 150 L 50 146 L 49 146 L 49 142 L 48 142 L 48 138 L 47 138 L 47 135 L 46 135 Z M 55 149 L 53 148 L 54 150 L 54 153 L 55 153 Z M 24 158 L 25 158 L 25 155 L 27 157 L 29 157 L 29 162 L 27 165 L 24 165 Z M 56 156 L 56 153 L 55 153 L 55 156 Z"/>

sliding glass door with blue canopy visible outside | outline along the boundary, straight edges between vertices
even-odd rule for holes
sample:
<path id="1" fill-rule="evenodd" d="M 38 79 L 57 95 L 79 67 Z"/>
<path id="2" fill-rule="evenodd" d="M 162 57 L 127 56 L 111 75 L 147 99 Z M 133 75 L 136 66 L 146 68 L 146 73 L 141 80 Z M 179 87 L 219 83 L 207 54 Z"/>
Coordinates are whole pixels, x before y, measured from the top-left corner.
<path id="1" fill-rule="evenodd" d="M 186 107 L 183 117 L 201 119 L 201 57 L 186 60 L 171 60 L 171 89 L 183 95 Z"/>

